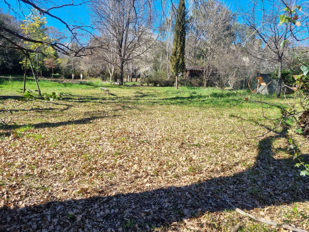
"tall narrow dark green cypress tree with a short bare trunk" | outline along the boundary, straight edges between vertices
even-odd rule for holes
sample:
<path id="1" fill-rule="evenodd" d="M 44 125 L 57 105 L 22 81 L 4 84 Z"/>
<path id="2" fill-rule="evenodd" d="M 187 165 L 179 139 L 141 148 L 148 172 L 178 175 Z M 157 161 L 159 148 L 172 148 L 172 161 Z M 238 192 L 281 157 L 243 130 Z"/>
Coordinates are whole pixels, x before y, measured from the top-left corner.
<path id="1" fill-rule="evenodd" d="M 179 0 L 177 9 L 175 34 L 171 55 L 171 73 L 176 76 L 176 88 L 178 88 L 178 75 L 184 72 L 184 47 L 186 42 L 186 6 L 184 0 Z"/>

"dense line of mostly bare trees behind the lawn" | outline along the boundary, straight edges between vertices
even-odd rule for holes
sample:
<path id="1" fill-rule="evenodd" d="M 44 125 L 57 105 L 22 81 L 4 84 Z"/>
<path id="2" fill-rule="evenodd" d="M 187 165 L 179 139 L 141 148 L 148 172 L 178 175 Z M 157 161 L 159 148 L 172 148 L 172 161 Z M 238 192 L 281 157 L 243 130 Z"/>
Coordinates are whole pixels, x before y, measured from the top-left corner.
<path id="1" fill-rule="evenodd" d="M 284 4 L 266 2 L 233 12 L 224 2 L 213 0 L 189 1 L 187 7 L 162 1 L 160 15 L 148 0 L 92 0 L 87 4 L 95 33 L 89 33 L 87 46 L 80 43 L 76 32 L 64 38 L 57 28 L 47 26 L 44 12 L 35 7 L 23 21 L 0 11 L 5 25 L 0 28 L 0 74 L 23 75 L 26 56 L 21 51 L 26 49 L 33 66 L 27 63 L 27 74 L 33 69 L 37 77 L 72 78 L 74 74 L 79 78 L 83 74 L 120 84 L 139 80 L 154 85 L 172 85 L 177 77 L 180 84 L 246 88 L 258 70 L 277 79 L 279 86 L 282 80 L 290 84 L 300 70 L 295 57 L 307 48 L 307 41 L 294 40 L 293 33 L 301 33 L 307 18 L 299 16 L 294 28 L 280 25 Z M 174 32 L 179 35 L 176 15 L 180 9 L 187 15 L 182 22 L 186 25 L 181 35 L 185 41 L 182 62 L 174 60 L 176 45 L 172 45 L 179 41 Z M 15 38 L 7 28 L 21 37 Z M 22 49 L 16 52 L 16 46 Z M 199 75 L 186 77 L 184 66 L 199 67 Z M 281 87 L 278 96 L 280 91 Z"/>

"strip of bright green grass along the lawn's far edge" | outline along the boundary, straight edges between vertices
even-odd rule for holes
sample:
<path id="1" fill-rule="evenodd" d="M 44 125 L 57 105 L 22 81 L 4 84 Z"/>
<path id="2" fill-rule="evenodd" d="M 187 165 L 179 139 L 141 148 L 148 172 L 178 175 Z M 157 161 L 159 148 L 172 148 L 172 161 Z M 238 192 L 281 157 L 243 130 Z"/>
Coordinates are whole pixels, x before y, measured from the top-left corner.
<path id="1" fill-rule="evenodd" d="M 174 87 L 130 87 L 111 85 L 101 81 L 87 81 L 83 84 L 57 83 L 48 80 L 39 80 L 41 92 L 69 92 L 78 95 L 83 101 L 99 101 L 104 98 L 99 87 L 110 89 L 111 95 L 108 100 L 118 101 L 126 105 L 183 105 L 183 106 L 212 106 L 232 108 L 256 108 L 260 104 L 253 102 L 242 102 L 248 91 L 240 91 L 243 96 L 235 91 L 220 90 L 217 88 L 194 88 L 182 86 L 178 90 Z M 2 80 L 0 90 L 5 90 L 11 95 L 21 91 L 23 83 L 16 80 Z M 27 89 L 36 89 L 34 81 L 26 82 Z M 87 91 L 86 91 L 87 90 Z M 85 92 L 86 91 L 86 92 Z M 92 94 L 95 93 L 95 94 Z M 20 93 L 19 93 L 20 94 Z M 99 95 L 98 95 L 99 94 Z M 250 95 L 256 101 L 270 101 L 285 107 L 282 101 L 275 98 L 275 95 Z M 240 103 L 242 102 L 242 103 Z M 239 104 L 240 103 L 240 104 Z M 236 106 L 233 106 L 238 104 Z"/>

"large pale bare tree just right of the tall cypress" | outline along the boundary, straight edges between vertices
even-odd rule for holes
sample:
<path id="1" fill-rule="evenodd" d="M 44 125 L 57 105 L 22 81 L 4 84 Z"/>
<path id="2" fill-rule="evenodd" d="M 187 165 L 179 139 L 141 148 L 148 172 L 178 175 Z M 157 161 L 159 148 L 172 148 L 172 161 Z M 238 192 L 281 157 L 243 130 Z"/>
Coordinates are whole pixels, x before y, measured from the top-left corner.
<path id="1" fill-rule="evenodd" d="M 222 74 L 223 71 L 222 59 L 225 59 L 231 50 L 234 37 L 232 29 L 235 19 L 235 14 L 223 3 L 211 0 L 196 1 L 190 21 L 190 36 L 188 38 L 189 49 L 193 56 L 188 57 L 188 59 L 189 62 L 191 60 L 193 63 L 199 62 L 202 65 L 205 87 L 209 85 L 214 72 L 217 74 L 216 78 L 222 77 L 222 75 L 218 74 Z M 220 88 L 226 85 L 226 81 L 223 81 L 225 77 L 222 78 L 216 80 L 216 85 Z"/>

